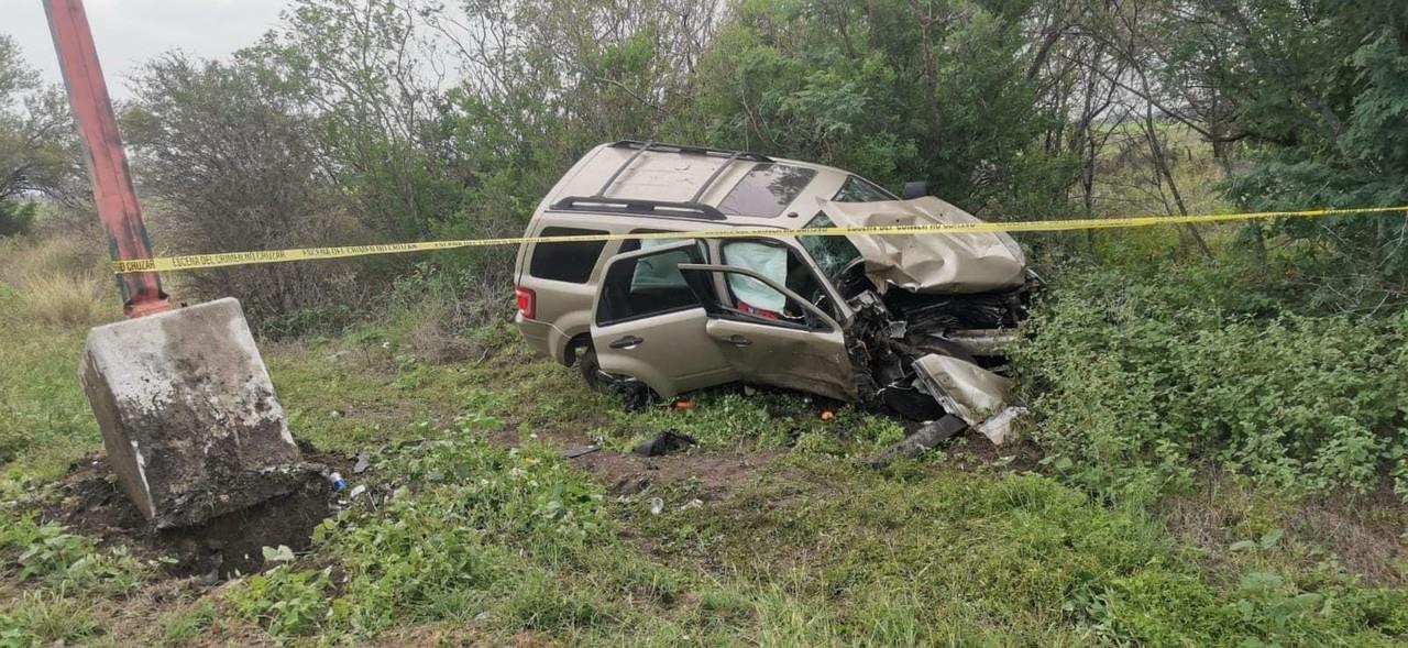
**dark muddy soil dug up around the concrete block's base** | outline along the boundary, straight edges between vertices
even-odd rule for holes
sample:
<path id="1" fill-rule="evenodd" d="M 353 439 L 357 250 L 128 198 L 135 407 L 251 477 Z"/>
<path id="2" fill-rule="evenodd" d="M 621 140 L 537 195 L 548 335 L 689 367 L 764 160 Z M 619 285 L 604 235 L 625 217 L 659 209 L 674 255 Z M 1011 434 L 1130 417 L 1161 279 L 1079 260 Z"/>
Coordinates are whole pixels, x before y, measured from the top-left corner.
<path id="1" fill-rule="evenodd" d="M 344 459 L 310 452 L 308 462 Z M 228 513 L 186 528 L 156 530 L 117 487 L 106 456 L 75 462 L 58 485 L 58 497 L 39 507 L 39 520 L 96 538 L 100 547 L 122 547 L 139 559 L 162 561 L 169 578 L 200 576 L 211 583 L 265 569 L 263 548 L 311 545 L 313 528 L 335 513 L 337 494 L 318 472 L 310 472 L 290 494 Z"/>

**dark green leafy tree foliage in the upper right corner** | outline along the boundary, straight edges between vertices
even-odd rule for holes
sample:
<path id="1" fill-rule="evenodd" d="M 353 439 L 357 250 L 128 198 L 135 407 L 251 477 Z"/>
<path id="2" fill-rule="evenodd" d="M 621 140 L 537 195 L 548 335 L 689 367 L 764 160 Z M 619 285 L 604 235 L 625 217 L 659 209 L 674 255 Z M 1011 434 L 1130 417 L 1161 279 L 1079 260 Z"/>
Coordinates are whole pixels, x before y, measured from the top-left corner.
<path id="1" fill-rule="evenodd" d="M 1252 1 L 1226 13 L 1245 27 L 1219 32 L 1209 46 L 1236 44 L 1231 49 L 1245 75 L 1231 79 L 1238 120 L 1257 144 L 1253 163 L 1226 183 L 1226 193 L 1257 210 L 1408 201 L 1404 4 Z M 1385 280 L 1332 297 L 1342 307 L 1363 307 L 1383 303 L 1408 282 L 1408 254 L 1398 244 L 1405 228 L 1402 217 L 1383 216 L 1293 220 L 1274 231 L 1314 241 L 1298 254 L 1324 259 L 1328 268 L 1311 270 L 1329 282 L 1356 275 Z"/>

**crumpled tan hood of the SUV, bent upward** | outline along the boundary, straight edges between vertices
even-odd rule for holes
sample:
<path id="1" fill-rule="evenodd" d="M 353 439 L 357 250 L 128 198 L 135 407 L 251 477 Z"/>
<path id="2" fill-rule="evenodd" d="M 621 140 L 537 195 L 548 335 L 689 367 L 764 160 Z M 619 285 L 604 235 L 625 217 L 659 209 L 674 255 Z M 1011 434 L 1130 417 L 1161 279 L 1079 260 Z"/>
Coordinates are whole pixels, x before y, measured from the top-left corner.
<path id="1" fill-rule="evenodd" d="M 934 196 L 880 203 L 821 200 L 841 227 L 981 223 Z M 848 234 L 866 262 L 866 276 L 884 292 L 890 283 L 915 293 L 966 294 L 1021 287 L 1026 256 L 1007 232 Z"/>

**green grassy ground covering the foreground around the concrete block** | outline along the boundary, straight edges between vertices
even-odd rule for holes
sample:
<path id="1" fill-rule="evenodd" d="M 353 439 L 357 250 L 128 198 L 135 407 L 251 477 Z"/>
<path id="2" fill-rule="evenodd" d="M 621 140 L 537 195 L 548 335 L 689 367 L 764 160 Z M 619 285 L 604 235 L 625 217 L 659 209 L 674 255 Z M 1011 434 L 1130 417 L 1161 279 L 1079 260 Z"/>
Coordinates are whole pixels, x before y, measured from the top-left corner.
<path id="1" fill-rule="evenodd" d="M 0 347 L 11 369 L 0 376 L 6 500 L 56 497 L 44 485 L 101 447 L 73 376 L 83 332 L 0 318 L 18 331 L 18 344 Z M 794 394 L 719 389 L 694 394 L 694 410 L 627 413 L 574 370 L 534 358 L 505 325 L 465 332 L 493 349 L 482 362 L 428 362 L 407 344 L 414 318 L 263 349 L 294 434 L 375 452 L 372 475 L 394 499 L 324 524 L 310 555 L 145 617 L 127 602 L 163 587 L 149 566 L 6 504 L 0 645 L 1408 640 L 1405 590 L 1356 582 L 1291 528 L 1297 504 L 1274 492 L 1215 499 L 1219 514 L 1240 517 L 1200 545 L 1167 530 L 1162 509 L 960 462 L 960 449 L 862 469 L 853 458 L 898 427 L 853 409 L 822 421 Z M 704 454 L 797 444 L 724 494 L 684 480 L 612 496 L 556 454 L 563 438 L 624 449 L 665 428 L 694 435 Z M 521 448 L 489 441 L 505 431 Z M 427 441 L 390 444 L 404 440 Z M 113 607 L 128 613 L 103 613 Z"/>

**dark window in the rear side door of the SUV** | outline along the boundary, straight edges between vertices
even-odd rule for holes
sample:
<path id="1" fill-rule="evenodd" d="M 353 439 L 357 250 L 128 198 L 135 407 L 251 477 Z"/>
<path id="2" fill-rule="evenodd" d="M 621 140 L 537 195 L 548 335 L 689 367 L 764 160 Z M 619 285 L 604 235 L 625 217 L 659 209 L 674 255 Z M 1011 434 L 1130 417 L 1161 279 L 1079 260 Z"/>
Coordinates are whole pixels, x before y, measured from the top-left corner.
<path id="1" fill-rule="evenodd" d="M 684 282 L 679 265 L 703 262 L 704 255 L 696 245 L 611 263 L 601 280 L 597 325 L 700 307 L 700 300 Z"/>

